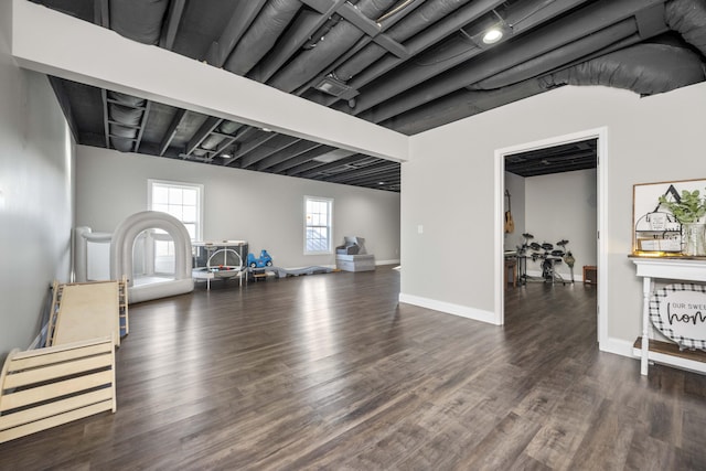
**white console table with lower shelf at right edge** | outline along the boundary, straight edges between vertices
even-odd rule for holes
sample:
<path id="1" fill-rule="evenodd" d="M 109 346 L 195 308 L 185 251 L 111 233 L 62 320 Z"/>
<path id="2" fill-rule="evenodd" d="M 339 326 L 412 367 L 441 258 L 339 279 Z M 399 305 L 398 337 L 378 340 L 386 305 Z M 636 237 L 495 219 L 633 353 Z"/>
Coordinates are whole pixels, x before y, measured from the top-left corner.
<path id="1" fill-rule="evenodd" d="M 642 345 L 640 351 L 640 373 L 648 374 L 649 362 L 682 367 L 706 373 L 706 363 L 650 352 L 650 296 L 654 289 L 654 279 L 706 281 L 706 257 L 640 257 L 630 256 L 642 277 Z"/>

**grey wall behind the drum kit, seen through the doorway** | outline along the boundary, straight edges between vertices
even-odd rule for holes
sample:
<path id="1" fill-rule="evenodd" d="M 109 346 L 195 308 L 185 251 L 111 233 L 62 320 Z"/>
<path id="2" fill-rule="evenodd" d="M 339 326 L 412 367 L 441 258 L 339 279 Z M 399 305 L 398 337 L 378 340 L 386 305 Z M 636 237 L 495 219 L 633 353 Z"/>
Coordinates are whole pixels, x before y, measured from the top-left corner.
<path id="1" fill-rule="evenodd" d="M 574 274 L 582 280 L 584 265 L 597 265 L 596 170 L 554 173 L 525 179 L 525 218 L 533 242 L 553 244 L 566 239 L 576 258 Z M 557 264 L 556 271 L 570 280 L 569 267 Z M 542 260 L 527 260 L 530 275 L 542 274 Z"/>

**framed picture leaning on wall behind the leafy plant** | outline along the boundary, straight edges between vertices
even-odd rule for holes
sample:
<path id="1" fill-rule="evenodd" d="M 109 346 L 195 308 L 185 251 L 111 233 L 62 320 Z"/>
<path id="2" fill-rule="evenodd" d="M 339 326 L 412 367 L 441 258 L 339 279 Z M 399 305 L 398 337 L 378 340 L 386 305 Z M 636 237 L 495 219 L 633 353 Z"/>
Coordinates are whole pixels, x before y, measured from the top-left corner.
<path id="1" fill-rule="evenodd" d="M 639 183 L 632 186 L 633 254 L 676 255 L 682 251 L 682 225 L 660 204 L 678 200 L 684 190 L 706 192 L 706 179 Z"/>

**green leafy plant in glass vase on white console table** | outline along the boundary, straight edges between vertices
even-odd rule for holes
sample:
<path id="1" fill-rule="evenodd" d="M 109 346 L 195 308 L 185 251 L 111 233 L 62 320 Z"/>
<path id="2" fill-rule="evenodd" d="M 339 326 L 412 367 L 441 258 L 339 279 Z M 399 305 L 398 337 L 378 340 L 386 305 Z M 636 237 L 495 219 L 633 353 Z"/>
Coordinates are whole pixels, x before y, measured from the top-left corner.
<path id="1" fill-rule="evenodd" d="M 685 255 L 706 255 L 706 195 L 698 190 L 682 191 L 675 201 L 668 201 L 665 195 L 660 196 L 660 204 L 674 214 L 682 224 L 682 240 Z"/>

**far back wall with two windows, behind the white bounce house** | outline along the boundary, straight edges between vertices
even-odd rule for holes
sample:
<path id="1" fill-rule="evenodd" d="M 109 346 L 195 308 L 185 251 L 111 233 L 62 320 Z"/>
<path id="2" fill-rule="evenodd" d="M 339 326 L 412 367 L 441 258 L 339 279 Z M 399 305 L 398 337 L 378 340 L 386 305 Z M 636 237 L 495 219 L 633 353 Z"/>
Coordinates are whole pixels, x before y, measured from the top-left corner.
<path id="1" fill-rule="evenodd" d="M 334 265 L 334 255 L 303 255 L 303 197 L 334 199 L 333 242 L 365 238 L 379 263 L 399 261 L 399 194 L 218 165 L 77 146 L 76 225 L 111 233 L 147 210 L 147 180 L 201 183 L 204 239 L 245 239 L 281 267 Z"/>

